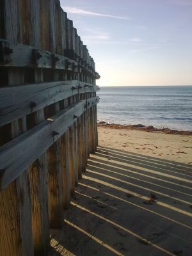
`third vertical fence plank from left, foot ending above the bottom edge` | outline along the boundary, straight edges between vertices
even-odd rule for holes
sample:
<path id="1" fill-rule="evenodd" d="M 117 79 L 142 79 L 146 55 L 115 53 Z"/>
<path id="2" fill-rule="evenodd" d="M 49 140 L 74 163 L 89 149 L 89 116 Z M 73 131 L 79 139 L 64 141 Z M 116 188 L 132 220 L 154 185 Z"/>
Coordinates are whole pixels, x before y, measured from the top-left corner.
<path id="1" fill-rule="evenodd" d="M 61 31 L 59 24 L 59 1 L 52 1 L 49 6 L 51 19 L 50 24 L 50 39 L 51 45 L 49 51 L 60 51 L 61 46 Z M 58 70 L 54 71 L 52 74 L 52 79 L 54 81 L 59 80 Z M 71 90 L 71 89 L 70 89 Z M 64 97 L 63 97 L 64 99 Z M 63 100 L 62 99 L 62 100 Z M 52 114 L 60 112 L 60 104 L 56 102 L 49 105 L 46 108 L 46 118 L 49 118 Z M 57 134 L 57 131 L 53 131 L 53 136 Z M 63 225 L 63 170 L 62 170 L 62 157 L 64 157 L 62 152 L 62 140 L 61 136 L 54 142 L 51 147 L 47 150 L 48 158 L 48 170 L 49 170 L 49 182 L 48 182 L 48 198 L 49 198 L 49 226 L 50 228 L 61 228 Z"/>

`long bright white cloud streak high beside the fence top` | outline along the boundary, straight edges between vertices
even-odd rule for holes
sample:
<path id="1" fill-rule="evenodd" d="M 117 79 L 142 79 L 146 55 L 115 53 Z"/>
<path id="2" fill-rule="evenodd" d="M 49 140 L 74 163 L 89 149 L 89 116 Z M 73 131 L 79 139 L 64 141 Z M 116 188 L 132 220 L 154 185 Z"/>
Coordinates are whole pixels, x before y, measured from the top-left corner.
<path id="1" fill-rule="evenodd" d="M 90 12 L 90 11 L 82 10 L 82 9 L 71 7 L 71 6 L 62 6 L 62 8 L 68 13 L 76 13 L 79 15 L 92 15 L 92 16 L 108 17 L 108 18 L 120 19 L 120 20 L 131 20 L 128 17 L 116 16 L 116 15 L 98 13 L 98 12 Z"/>

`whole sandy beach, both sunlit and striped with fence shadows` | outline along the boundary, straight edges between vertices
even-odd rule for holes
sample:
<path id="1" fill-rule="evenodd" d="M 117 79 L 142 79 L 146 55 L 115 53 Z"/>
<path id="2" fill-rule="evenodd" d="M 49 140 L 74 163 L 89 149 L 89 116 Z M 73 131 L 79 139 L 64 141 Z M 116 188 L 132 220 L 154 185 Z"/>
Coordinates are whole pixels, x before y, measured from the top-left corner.
<path id="1" fill-rule="evenodd" d="M 192 255 L 192 136 L 99 127 L 55 255 Z"/>

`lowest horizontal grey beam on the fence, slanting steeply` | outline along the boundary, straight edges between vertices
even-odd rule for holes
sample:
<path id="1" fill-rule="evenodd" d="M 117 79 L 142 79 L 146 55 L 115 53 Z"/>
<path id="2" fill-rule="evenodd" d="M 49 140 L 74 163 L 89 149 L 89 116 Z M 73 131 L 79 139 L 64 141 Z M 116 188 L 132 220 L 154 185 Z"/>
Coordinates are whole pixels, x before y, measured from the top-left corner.
<path id="1" fill-rule="evenodd" d="M 0 149 L 0 190 L 38 159 L 87 108 L 98 102 L 99 97 L 80 100 L 3 145 Z"/>

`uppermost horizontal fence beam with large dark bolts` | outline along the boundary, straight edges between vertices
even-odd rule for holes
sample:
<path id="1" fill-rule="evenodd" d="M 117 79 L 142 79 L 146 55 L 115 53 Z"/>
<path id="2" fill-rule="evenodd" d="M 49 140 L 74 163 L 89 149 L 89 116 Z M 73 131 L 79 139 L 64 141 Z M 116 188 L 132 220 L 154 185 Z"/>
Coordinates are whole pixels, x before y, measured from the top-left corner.
<path id="1" fill-rule="evenodd" d="M 0 38 L 0 67 L 54 68 L 81 72 L 85 68 L 90 76 L 99 79 L 99 74 L 88 63 L 77 58 L 72 60 L 54 52 L 36 49 L 30 45 L 13 44 Z"/>

